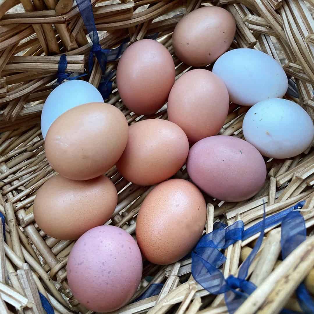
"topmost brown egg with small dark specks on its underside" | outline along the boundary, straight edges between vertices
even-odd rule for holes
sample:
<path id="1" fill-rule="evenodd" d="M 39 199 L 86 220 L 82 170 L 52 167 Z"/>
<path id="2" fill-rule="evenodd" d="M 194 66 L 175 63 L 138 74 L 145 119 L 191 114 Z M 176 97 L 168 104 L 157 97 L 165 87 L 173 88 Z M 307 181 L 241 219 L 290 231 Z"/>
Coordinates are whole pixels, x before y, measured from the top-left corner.
<path id="1" fill-rule="evenodd" d="M 173 31 L 172 46 L 181 61 L 201 67 L 227 51 L 235 34 L 232 14 L 220 7 L 203 7 L 179 21 Z"/>

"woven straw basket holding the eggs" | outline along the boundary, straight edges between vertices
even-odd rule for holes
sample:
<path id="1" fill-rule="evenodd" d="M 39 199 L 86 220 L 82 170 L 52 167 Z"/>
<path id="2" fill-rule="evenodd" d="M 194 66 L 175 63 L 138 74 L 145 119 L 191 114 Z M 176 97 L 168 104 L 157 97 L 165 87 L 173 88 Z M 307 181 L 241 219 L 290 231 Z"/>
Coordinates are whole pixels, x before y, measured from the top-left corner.
<path id="1" fill-rule="evenodd" d="M 39 290 L 57 314 L 91 313 L 73 297 L 67 283 L 66 267 L 74 241 L 59 241 L 40 230 L 32 204 L 38 188 L 56 175 L 45 158 L 39 122 L 43 103 L 57 77 L 60 54 L 67 55 L 67 71 L 83 73 L 92 43 L 73 0 L 1 0 L 0 3 L 0 211 L 6 217 L 6 242 L 0 232 L 0 312 L 44 313 Z M 158 32 L 157 40 L 173 55 L 176 78 L 190 69 L 172 49 L 171 36 L 176 23 L 184 14 L 203 5 L 223 6 L 236 19 L 236 37 L 231 48 L 258 49 L 280 61 L 285 72 L 294 78 L 299 95 L 294 98 L 287 94 L 286 98 L 302 106 L 314 119 L 313 0 L 92 0 L 92 5 L 103 48 L 114 48 L 127 37 L 132 43 Z M 109 62 L 107 71 L 115 70 L 116 65 L 117 61 Z M 91 75 L 83 79 L 98 87 L 101 74 L 95 59 Z M 151 116 L 138 116 L 128 110 L 115 88 L 115 77 L 112 80 L 112 93 L 106 101 L 118 107 L 129 124 L 148 118 L 167 119 L 166 109 Z M 243 138 L 241 127 L 247 110 L 247 107 L 235 108 L 219 134 Z M 265 161 L 267 180 L 252 199 L 240 203 L 206 199 L 206 233 L 217 219 L 230 224 L 241 218 L 246 226 L 256 223 L 263 215 L 263 200 L 267 201 L 267 214 L 306 200 L 304 208 L 308 210 L 302 214 L 307 234 L 314 234 L 313 147 L 293 159 Z M 107 176 L 119 192 L 111 224 L 135 236 L 136 215 L 152 187 L 126 181 L 116 167 Z M 176 177 L 188 179 L 185 167 Z M 225 276 L 237 272 L 257 236 L 242 243 L 238 241 L 226 250 L 229 262 L 223 268 Z M 278 313 L 283 307 L 300 311 L 294 291 L 304 279 L 308 291 L 314 295 L 314 237 L 308 237 L 291 254 L 289 263 L 277 261 L 278 254 L 267 254 L 279 249 L 277 227 L 266 233 L 249 270 L 258 294 L 251 295 L 239 313 L 257 310 Z M 147 276 L 152 278 L 150 282 Z M 227 313 L 223 295 L 210 295 L 194 281 L 191 259 L 168 266 L 144 262 L 143 280 L 133 299 L 153 283 L 164 283 L 159 295 L 130 303 L 116 312 Z M 255 307 L 257 300 L 261 304 L 259 309 Z M 28 307 L 31 304 L 32 309 Z"/>

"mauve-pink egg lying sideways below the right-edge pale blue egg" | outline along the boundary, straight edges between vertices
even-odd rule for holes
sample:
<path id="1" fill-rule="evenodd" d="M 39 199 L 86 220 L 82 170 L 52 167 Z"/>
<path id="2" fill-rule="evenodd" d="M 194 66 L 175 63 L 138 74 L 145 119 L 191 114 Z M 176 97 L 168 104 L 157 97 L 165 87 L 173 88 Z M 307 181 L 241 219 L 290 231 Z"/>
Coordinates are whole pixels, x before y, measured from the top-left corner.
<path id="1" fill-rule="evenodd" d="M 266 179 L 259 151 L 240 138 L 223 135 L 203 138 L 191 147 L 187 172 L 201 190 L 227 202 L 252 197 Z"/>

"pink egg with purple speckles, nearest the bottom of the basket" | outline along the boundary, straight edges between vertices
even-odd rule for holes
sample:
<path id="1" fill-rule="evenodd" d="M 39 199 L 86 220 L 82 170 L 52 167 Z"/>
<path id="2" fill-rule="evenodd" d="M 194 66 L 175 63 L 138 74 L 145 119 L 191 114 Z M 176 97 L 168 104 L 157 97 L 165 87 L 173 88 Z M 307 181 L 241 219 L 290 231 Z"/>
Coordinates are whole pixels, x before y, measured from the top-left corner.
<path id="1" fill-rule="evenodd" d="M 71 250 L 69 287 L 87 309 L 115 311 L 136 292 L 142 265 L 138 245 L 126 231 L 108 225 L 95 227 L 85 232 Z"/>

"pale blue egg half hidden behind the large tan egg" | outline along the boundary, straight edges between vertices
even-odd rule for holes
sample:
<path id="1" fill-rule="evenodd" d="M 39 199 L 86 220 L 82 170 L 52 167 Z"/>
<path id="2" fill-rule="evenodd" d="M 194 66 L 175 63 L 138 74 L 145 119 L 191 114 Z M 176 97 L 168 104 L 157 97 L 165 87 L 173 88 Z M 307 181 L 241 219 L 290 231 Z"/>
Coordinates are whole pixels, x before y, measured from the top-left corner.
<path id="1" fill-rule="evenodd" d="M 51 124 L 62 113 L 89 102 L 104 102 L 94 85 L 82 80 L 73 80 L 57 86 L 47 97 L 41 112 L 41 133 L 44 139 Z"/>

